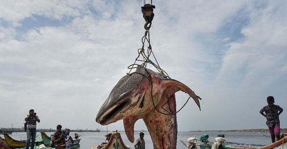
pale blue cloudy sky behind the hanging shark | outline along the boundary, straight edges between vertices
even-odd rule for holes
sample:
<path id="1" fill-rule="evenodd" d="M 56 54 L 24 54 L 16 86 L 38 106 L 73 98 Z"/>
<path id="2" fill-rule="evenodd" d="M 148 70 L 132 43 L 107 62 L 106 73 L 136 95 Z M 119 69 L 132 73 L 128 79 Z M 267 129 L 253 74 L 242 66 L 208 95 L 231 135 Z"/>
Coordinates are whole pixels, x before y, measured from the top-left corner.
<path id="1" fill-rule="evenodd" d="M 146 1 L 150 3 L 150 1 Z M 202 100 L 177 113 L 178 131 L 267 128 L 273 95 L 287 110 L 287 1 L 153 1 L 153 53 Z M 96 114 L 138 56 L 142 1 L 0 0 L 0 128 L 124 130 Z M 152 65 L 148 68 L 153 69 Z M 188 95 L 175 93 L 177 109 Z M 280 115 L 287 128 L 287 112 Z M 135 130 L 147 130 L 138 120 Z"/>

